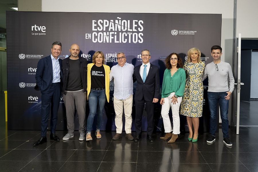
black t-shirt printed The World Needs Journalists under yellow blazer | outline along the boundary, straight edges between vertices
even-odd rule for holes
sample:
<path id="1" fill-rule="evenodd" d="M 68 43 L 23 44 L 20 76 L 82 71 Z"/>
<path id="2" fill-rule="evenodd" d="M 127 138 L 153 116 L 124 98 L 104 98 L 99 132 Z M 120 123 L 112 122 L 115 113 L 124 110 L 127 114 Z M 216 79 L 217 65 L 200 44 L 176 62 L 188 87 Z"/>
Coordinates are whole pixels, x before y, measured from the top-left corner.
<path id="1" fill-rule="evenodd" d="M 91 88 L 105 88 L 105 69 L 104 66 L 91 68 Z"/>

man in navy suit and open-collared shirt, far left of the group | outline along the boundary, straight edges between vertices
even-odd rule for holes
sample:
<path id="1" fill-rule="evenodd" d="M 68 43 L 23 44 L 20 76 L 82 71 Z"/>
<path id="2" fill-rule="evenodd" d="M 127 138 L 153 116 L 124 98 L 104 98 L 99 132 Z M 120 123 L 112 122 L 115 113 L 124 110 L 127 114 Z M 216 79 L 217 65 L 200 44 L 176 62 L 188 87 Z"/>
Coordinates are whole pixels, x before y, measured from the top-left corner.
<path id="1" fill-rule="evenodd" d="M 46 132 L 50 111 L 50 139 L 59 141 L 55 133 L 61 97 L 62 60 L 59 59 L 61 50 L 61 42 L 55 41 L 51 47 L 51 55 L 38 62 L 35 78 L 41 92 L 41 137 L 33 146 L 41 145 L 47 141 Z"/>

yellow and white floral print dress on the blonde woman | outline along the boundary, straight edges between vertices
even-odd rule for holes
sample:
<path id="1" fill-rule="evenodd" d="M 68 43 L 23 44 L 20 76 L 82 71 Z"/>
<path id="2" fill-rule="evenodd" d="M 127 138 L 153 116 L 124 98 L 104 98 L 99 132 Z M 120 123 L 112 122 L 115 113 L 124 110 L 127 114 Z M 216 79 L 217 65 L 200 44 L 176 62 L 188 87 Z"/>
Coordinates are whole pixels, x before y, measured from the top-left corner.
<path id="1" fill-rule="evenodd" d="M 185 62 L 186 72 L 185 91 L 181 102 L 181 114 L 189 117 L 201 117 L 203 106 L 202 73 L 204 62 Z"/>

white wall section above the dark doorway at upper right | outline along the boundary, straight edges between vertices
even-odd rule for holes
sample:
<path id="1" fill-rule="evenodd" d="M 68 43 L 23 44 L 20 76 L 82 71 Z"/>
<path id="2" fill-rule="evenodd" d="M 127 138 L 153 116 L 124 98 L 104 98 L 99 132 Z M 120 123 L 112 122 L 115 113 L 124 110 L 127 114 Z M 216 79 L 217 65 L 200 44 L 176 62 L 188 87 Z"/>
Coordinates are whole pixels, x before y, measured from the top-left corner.
<path id="1" fill-rule="evenodd" d="M 236 37 L 258 38 L 258 1 L 238 0 L 236 9 Z"/>

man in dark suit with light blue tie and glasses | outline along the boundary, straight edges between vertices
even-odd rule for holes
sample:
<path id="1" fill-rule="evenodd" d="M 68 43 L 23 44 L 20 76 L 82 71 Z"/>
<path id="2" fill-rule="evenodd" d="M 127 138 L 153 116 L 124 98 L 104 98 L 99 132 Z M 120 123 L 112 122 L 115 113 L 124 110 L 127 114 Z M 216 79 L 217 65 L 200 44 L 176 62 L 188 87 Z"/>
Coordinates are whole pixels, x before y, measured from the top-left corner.
<path id="1" fill-rule="evenodd" d="M 141 138 L 142 131 L 142 113 L 144 109 L 144 103 L 146 104 L 147 112 L 147 139 L 153 142 L 154 123 L 154 103 L 159 101 L 159 68 L 150 64 L 150 51 L 147 49 L 141 52 L 142 64 L 134 67 L 134 80 L 137 80 L 137 86 L 135 91 L 135 121 L 134 126 L 136 130 L 136 136 L 134 141 L 138 142 Z"/>

